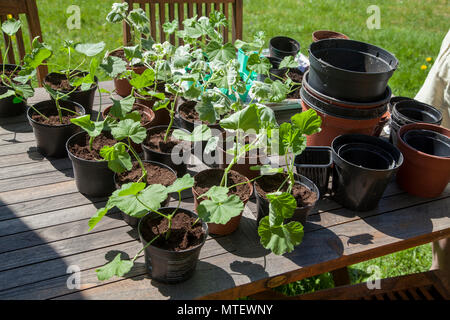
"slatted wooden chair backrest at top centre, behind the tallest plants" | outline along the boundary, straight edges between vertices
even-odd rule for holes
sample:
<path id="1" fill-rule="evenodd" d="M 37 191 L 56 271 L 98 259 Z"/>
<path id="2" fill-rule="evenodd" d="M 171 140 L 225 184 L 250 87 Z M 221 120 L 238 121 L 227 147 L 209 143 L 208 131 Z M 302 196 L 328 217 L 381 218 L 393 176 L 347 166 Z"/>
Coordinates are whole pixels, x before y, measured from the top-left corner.
<path id="1" fill-rule="evenodd" d="M 166 41 L 166 34 L 162 25 L 167 21 L 178 20 L 182 28 L 182 21 L 185 18 L 191 18 L 195 15 L 198 17 L 209 16 L 211 11 L 221 11 L 228 19 L 229 28 L 223 28 L 223 37 L 228 42 L 229 33 L 231 31 L 232 41 L 242 39 L 242 7 L 243 0 L 123 0 L 128 2 L 128 9 L 132 10 L 135 3 L 145 10 L 150 17 L 150 31 L 153 39 L 157 42 Z M 148 10 L 146 8 L 148 5 Z M 230 8 L 231 7 L 231 8 Z M 158 20 L 158 21 L 157 21 Z M 124 22 L 123 25 L 123 43 L 130 45 L 132 43 L 130 28 Z M 181 39 L 172 34 L 167 39 L 173 45 L 183 44 Z"/>

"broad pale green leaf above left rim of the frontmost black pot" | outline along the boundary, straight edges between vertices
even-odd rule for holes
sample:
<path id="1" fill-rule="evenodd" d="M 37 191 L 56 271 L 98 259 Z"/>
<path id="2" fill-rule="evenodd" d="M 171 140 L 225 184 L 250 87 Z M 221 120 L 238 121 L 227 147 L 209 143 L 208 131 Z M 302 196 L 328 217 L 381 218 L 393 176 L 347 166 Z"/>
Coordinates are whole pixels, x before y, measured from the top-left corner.
<path id="1" fill-rule="evenodd" d="M 160 184 L 152 184 L 141 190 L 142 184 L 131 182 L 122 185 L 109 197 L 108 205 L 117 207 L 129 216 L 141 218 L 150 209 L 158 210 L 161 202 L 168 196 L 167 188 Z"/>

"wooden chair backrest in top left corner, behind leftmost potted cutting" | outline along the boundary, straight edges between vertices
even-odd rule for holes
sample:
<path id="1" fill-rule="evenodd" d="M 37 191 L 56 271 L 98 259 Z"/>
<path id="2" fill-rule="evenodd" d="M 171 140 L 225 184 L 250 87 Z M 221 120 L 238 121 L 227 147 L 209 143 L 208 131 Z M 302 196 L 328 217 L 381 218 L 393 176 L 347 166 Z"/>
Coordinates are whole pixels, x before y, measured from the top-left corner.
<path id="1" fill-rule="evenodd" d="M 36 0 L 0 0 L 0 21 L 2 23 L 8 19 L 8 15 L 11 15 L 14 19 L 19 20 L 20 14 L 25 14 L 27 18 L 30 40 L 33 40 L 35 37 L 39 36 L 40 41 L 43 41 Z M 10 43 L 10 48 L 12 49 L 13 39 L 5 33 L 3 33 L 3 39 L 5 40 L 4 50 L 6 50 L 7 43 Z M 19 57 L 16 59 L 14 50 L 8 50 L 8 63 L 16 64 L 17 61 L 17 64 L 20 64 L 25 56 L 25 44 L 23 42 L 23 34 L 21 29 L 15 35 L 15 42 Z M 0 49 L 0 63 L 3 63 L 2 49 Z M 47 66 L 40 66 L 38 68 L 37 78 L 40 86 L 42 86 L 43 79 L 47 73 Z"/>

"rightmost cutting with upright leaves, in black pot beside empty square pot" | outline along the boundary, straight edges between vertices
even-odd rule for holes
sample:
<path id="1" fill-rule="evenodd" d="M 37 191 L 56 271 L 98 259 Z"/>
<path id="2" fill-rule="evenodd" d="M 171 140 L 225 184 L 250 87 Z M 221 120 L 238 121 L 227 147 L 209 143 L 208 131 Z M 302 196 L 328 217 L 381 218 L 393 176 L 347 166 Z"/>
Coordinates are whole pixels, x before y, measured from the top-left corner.
<path id="1" fill-rule="evenodd" d="M 292 116 L 291 123 L 285 122 L 280 125 L 278 135 L 271 135 L 271 151 L 284 157 L 286 174 L 265 175 L 255 182 L 258 221 L 269 214 L 268 194 L 285 192 L 293 195 L 297 204 L 292 219 L 302 224 L 306 222 L 320 195 L 317 186 L 309 179 L 295 176 L 294 158 L 305 150 L 306 136 L 320 131 L 321 123 L 322 120 L 317 113 L 308 110 Z"/>

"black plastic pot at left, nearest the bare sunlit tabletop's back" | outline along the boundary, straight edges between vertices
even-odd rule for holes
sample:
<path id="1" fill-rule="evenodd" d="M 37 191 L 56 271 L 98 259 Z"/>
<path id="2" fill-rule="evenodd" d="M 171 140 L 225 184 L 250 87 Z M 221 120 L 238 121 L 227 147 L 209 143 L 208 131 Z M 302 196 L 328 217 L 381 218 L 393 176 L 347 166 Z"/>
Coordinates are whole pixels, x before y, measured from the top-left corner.
<path id="1" fill-rule="evenodd" d="M 60 101 L 59 104 L 63 108 L 76 111 L 79 115 L 85 114 L 84 108 L 76 102 L 66 100 Z M 33 108 L 43 115 L 57 114 L 56 104 L 53 100 L 36 103 Z M 28 108 L 27 117 L 36 137 L 38 151 L 45 157 L 67 157 L 66 142 L 72 135 L 80 131 L 80 127 L 73 123 L 62 125 L 40 123 L 33 119 L 33 115 L 37 114 L 33 108 Z M 63 110 L 62 114 L 70 113 Z"/>

